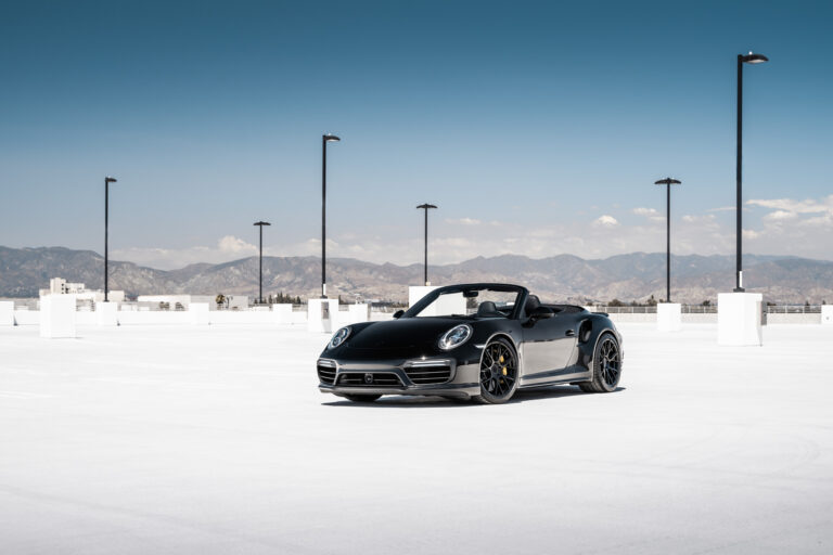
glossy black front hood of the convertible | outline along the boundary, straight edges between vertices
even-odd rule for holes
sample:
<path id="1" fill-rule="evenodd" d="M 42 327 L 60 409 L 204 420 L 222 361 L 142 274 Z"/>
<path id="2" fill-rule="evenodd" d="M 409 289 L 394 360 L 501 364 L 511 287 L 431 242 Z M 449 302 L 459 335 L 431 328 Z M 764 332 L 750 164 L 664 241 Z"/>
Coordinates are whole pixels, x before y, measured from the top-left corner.
<path id="1" fill-rule="evenodd" d="M 453 326 L 469 323 L 459 318 L 403 318 L 388 322 L 374 322 L 347 338 L 351 349 L 389 350 L 436 347 L 439 337 Z"/>

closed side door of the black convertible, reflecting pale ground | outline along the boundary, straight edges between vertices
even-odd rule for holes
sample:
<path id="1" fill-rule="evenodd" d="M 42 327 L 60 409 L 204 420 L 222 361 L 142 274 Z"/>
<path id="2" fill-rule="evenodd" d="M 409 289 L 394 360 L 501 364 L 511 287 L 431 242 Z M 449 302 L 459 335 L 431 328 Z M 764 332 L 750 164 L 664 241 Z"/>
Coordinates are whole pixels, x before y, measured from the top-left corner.
<path id="1" fill-rule="evenodd" d="M 526 385 L 553 379 L 567 365 L 576 346 L 575 325 L 575 318 L 564 313 L 524 324 L 522 380 Z"/>

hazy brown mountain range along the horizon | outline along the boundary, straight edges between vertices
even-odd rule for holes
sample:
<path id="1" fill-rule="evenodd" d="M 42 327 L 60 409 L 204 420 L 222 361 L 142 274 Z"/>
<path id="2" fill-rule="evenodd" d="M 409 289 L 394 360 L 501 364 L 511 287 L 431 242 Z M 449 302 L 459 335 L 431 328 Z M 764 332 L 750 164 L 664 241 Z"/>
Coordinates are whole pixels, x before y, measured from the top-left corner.
<path id="1" fill-rule="evenodd" d="M 84 282 L 103 287 L 104 259 L 91 250 L 63 247 L 0 247 L 0 296 L 33 297 L 49 286 L 49 279 Z M 744 256 L 747 291 L 764 293 L 778 302 L 833 301 L 833 262 L 795 257 Z M 257 294 L 256 257 L 220 264 L 198 263 L 163 271 L 132 262 L 111 261 L 112 289 L 129 296 L 142 294 Z M 683 302 L 716 299 L 734 287 L 733 256 L 679 256 L 671 259 L 672 296 Z M 407 285 L 422 281 L 422 264 L 375 264 L 349 258 L 328 260 L 328 293 L 353 299 L 407 298 Z M 644 300 L 665 297 L 665 254 L 632 253 L 600 260 L 572 255 L 533 259 L 517 255 L 477 257 L 456 264 L 430 268 L 435 284 L 460 282 L 521 283 L 547 299 L 579 301 L 613 298 Z M 317 296 L 321 264 L 318 257 L 265 257 L 265 294 L 282 292 Z"/>

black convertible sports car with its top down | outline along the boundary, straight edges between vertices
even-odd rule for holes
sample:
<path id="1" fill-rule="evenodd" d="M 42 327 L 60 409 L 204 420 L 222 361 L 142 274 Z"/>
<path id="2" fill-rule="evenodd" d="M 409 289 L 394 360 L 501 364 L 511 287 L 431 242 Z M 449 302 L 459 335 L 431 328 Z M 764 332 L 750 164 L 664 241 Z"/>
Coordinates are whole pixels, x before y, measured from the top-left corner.
<path id="1" fill-rule="evenodd" d="M 394 320 L 342 327 L 318 359 L 319 389 L 351 401 L 383 395 L 484 403 L 517 389 L 576 384 L 616 389 L 621 336 L 607 314 L 543 305 L 526 287 L 439 287 Z"/>

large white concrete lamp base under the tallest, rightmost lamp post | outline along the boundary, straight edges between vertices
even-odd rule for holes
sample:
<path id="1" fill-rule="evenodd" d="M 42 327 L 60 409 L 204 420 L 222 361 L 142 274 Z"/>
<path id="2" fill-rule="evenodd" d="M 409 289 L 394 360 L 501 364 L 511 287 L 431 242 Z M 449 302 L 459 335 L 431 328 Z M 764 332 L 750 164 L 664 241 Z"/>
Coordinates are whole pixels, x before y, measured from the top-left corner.
<path id="1" fill-rule="evenodd" d="M 718 345 L 764 344 L 760 293 L 720 293 L 717 295 Z"/>

